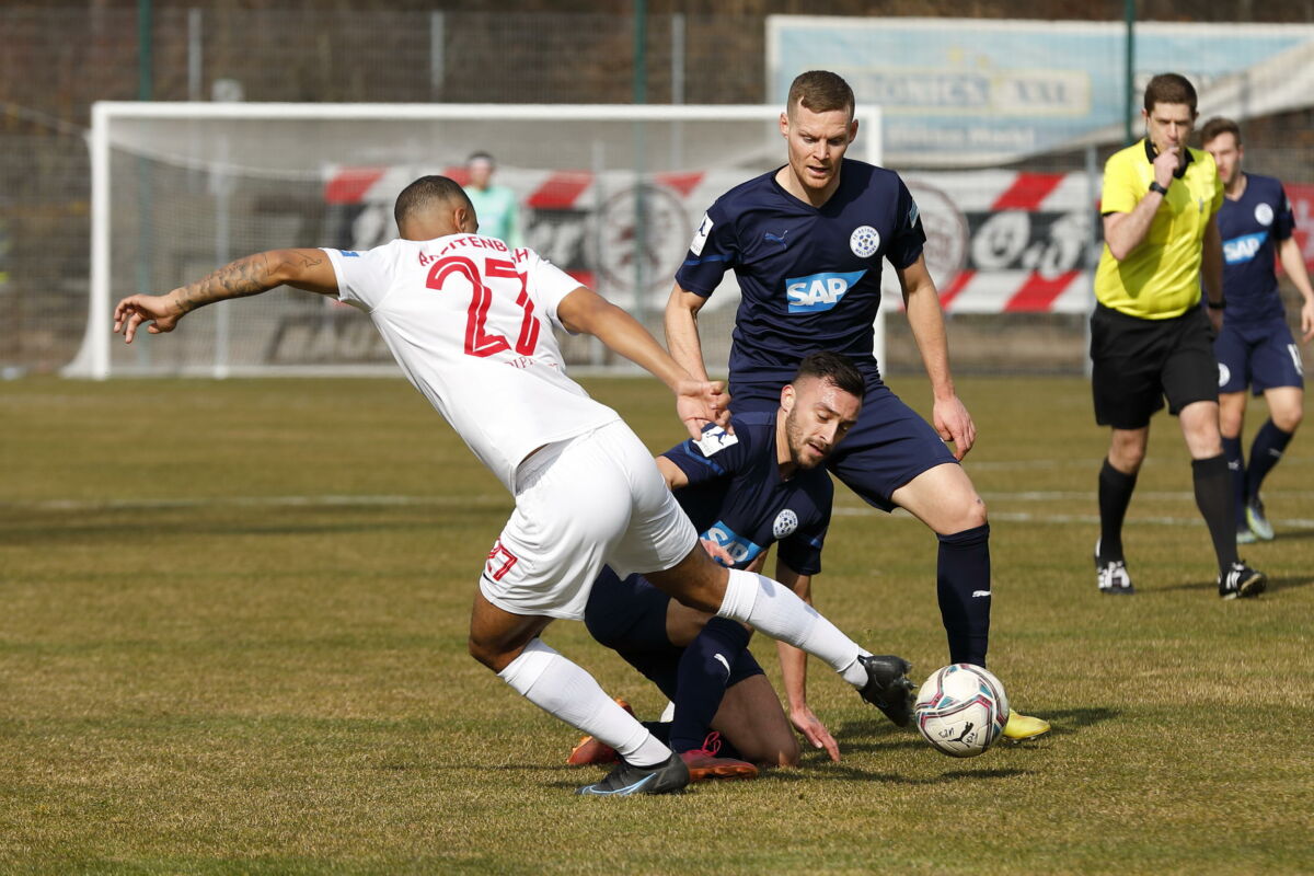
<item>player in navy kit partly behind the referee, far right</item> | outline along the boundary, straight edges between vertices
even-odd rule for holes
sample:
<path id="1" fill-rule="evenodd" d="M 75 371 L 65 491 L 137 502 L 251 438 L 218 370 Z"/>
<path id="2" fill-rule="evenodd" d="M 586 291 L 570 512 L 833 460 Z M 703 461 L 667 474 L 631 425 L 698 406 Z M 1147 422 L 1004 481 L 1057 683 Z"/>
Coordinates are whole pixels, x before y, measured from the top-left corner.
<path id="1" fill-rule="evenodd" d="M 1246 150 L 1240 127 L 1227 118 L 1205 122 L 1205 151 L 1214 156 L 1223 183 L 1218 230 L 1223 239 L 1223 326 L 1214 341 L 1218 357 L 1219 432 L 1236 490 L 1236 541 L 1273 538 L 1259 487 L 1301 424 L 1305 373 L 1301 352 L 1286 324 L 1286 309 L 1273 272 L 1275 251 L 1286 276 L 1305 298 L 1301 335 L 1314 338 L 1314 289 L 1301 247 L 1292 232 L 1296 218 L 1282 184 L 1240 169 Z M 1250 466 L 1240 448 L 1246 389 L 1264 394 L 1268 420 L 1250 448 Z"/>

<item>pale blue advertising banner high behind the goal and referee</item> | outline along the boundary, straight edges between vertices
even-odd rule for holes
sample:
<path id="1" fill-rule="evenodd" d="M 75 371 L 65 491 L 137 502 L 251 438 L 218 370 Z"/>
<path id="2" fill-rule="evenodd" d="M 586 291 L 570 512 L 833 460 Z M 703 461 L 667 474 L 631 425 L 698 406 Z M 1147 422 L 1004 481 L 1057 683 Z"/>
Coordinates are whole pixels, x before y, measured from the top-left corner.
<path id="1" fill-rule="evenodd" d="M 1173 71 L 1202 114 L 1303 106 L 1311 47 L 1311 25 L 1141 22 L 1135 91 Z M 880 106 L 887 165 L 1001 164 L 1121 141 L 1125 51 L 1121 22 L 771 16 L 767 101 L 783 104 L 805 70 L 833 70 L 859 105 Z"/>

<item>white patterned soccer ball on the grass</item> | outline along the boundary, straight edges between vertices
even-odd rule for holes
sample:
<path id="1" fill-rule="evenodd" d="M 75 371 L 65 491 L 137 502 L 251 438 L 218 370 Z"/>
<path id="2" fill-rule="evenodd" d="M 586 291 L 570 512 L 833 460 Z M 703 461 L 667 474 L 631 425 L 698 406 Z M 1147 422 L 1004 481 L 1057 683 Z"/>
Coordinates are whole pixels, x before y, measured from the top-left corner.
<path id="1" fill-rule="evenodd" d="M 1008 724 L 1008 695 L 997 678 L 971 663 L 936 670 L 917 692 L 917 729 L 953 758 L 975 758 Z"/>

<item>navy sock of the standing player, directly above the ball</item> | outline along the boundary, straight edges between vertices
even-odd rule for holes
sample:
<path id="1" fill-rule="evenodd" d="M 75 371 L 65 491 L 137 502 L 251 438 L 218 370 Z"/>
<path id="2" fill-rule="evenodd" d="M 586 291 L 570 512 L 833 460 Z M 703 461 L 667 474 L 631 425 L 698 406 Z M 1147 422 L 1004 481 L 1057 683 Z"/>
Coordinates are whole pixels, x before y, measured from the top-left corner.
<path id="1" fill-rule="evenodd" d="M 989 524 L 940 537 L 936 594 L 953 663 L 986 666 L 989 645 Z"/>

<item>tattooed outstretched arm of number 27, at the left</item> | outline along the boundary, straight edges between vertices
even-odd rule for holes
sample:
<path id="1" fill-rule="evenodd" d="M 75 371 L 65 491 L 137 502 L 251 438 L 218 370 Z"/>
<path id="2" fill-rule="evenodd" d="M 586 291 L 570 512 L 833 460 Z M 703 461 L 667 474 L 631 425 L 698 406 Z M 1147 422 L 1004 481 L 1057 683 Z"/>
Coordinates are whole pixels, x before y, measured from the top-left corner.
<path id="1" fill-rule="evenodd" d="M 114 307 L 114 331 L 122 332 L 124 340 L 130 344 L 143 322 L 150 323 L 146 331 L 152 335 L 173 331 L 177 320 L 197 307 L 226 298 L 258 296 L 281 285 L 335 296 L 338 274 L 322 250 L 258 252 L 166 296 L 124 298 Z"/>

